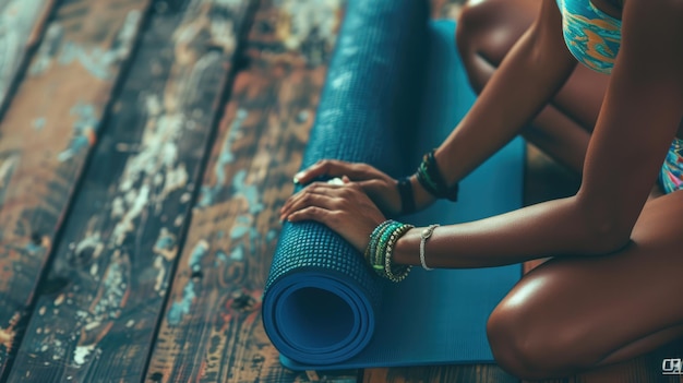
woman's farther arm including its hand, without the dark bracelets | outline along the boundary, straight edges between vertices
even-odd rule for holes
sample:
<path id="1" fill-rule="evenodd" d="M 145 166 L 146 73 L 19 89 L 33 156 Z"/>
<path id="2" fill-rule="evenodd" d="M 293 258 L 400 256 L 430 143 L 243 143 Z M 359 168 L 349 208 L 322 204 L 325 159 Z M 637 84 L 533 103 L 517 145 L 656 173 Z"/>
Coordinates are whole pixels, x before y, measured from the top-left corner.
<path id="1" fill-rule="evenodd" d="M 537 19 L 511 49 L 468 116 L 439 148 L 438 163 L 448 184 L 465 177 L 519 134 L 572 73 L 576 60 L 564 47 L 562 21 L 554 0 L 544 0 L 541 17 Z M 322 160 L 296 175 L 295 182 L 308 184 L 323 175 L 347 176 L 360 183 L 385 214 L 400 212 L 396 181 L 366 164 Z M 410 181 L 417 208 L 430 205 L 434 198 L 415 176 Z M 290 202 L 284 205 L 281 219 L 291 212 Z"/>

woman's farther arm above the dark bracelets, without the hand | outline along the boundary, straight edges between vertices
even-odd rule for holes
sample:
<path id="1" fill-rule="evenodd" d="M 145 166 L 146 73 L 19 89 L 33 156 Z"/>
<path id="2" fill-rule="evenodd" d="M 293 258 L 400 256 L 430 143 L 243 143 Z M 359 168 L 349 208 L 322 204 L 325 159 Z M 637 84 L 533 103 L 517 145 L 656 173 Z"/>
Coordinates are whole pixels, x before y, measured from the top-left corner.
<path id="1" fill-rule="evenodd" d="M 562 36 L 555 0 L 543 0 L 540 14 L 510 50 L 467 116 L 438 148 L 446 183 L 454 184 L 503 147 L 548 104 L 571 75 L 576 60 Z M 412 179 L 418 205 L 429 199 Z"/>

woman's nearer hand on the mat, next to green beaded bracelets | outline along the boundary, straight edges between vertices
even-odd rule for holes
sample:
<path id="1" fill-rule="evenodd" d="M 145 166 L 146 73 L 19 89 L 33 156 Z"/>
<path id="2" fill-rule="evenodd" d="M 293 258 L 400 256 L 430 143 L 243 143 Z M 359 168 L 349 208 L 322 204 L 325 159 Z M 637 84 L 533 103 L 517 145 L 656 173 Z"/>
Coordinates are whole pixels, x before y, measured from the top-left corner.
<path id="1" fill-rule="evenodd" d="M 309 184 L 287 200 L 280 210 L 280 219 L 319 222 L 361 253 L 368 247 L 372 230 L 386 220 L 362 188 L 348 178 L 342 184 Z"/>

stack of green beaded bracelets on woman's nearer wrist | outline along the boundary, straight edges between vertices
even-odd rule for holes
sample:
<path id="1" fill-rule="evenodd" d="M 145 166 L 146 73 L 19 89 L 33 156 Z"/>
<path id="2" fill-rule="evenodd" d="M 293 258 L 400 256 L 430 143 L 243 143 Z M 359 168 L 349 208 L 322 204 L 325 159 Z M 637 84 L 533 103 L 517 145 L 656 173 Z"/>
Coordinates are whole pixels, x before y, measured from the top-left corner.
<path id="1" fill-rule="evenodd" d="M 398 239 L 411 228 L 412 225 L 390 219 L 372 231 L 366 249 L 366 260 L 378 275 L 392 282 L 400 282 L 408 276 L 410 266 L 392 264 L 392 253 Z"/>

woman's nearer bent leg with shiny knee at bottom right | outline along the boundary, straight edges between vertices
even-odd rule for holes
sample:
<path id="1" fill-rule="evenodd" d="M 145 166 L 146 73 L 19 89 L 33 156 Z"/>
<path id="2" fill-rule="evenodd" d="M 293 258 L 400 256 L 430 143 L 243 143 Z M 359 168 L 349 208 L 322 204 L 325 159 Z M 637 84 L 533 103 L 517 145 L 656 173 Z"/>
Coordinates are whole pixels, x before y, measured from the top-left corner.
<path id="1" fill-rule="evenodd" d="M 632 243 L 556 258 L 527 274 L 489 319 L 504 369 L 562 376 L 624 361 L 683 335 L 683 192 L 649 201 Z"/>

